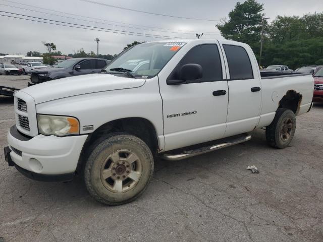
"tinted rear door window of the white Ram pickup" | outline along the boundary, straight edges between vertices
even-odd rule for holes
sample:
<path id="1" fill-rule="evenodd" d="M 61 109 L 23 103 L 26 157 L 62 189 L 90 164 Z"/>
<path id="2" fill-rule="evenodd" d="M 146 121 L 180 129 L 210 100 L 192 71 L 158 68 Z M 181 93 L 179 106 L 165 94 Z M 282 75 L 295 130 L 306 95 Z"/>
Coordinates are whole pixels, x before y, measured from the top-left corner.
<path id="1" fill-rule="evenodd" d="M 223 45 L 226 52 L 230 80 L 253 79 L 251 62 L 247 51 L 237 45 Z"/>

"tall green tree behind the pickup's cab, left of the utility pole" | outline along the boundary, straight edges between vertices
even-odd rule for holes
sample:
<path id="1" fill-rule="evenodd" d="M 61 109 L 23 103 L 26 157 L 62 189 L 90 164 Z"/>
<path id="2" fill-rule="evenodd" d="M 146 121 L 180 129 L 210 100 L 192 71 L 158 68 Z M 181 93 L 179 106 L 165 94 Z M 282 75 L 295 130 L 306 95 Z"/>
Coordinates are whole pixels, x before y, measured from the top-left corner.
<path id="1" fill-rule="evenodd" d="M 255 53 L 259 53 L 259 40 L 264 16 L 262 11 L 263 4 L 259 4 L 255 0 L 238 2 L 229 13 L 229 20 L 223 20 L 223 23 L 218 24 L 217 28 L 226 39 L 247 43 Z"/>

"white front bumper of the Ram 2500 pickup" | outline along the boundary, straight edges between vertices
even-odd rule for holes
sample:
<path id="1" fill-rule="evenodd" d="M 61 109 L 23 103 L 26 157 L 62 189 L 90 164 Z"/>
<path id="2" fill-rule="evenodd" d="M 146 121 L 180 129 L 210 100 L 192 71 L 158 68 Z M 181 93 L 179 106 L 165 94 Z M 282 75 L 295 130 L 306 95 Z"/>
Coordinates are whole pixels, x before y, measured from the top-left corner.
<path id="1" fill-rule="evenodd" d="M 7 135 L 12 162 L 27 173 L 29 171 L 38 175 L 74 173 L 87 137 L 37 135 L 28 138 L 19 133 L 16 126 Z"/>

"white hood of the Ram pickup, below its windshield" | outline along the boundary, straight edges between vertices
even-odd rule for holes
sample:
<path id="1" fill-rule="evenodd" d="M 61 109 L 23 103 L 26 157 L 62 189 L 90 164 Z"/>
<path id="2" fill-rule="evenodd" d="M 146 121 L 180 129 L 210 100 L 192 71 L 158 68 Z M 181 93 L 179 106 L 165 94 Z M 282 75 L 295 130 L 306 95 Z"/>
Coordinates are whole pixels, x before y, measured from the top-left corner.
<path id="1" fill-rule="evenodd" d="M 52 80 L 24 88 L 20 92 L 29 94 L 38 104 L 94 92 L 136 88 L 144 83 L 145 79 L 117 77 L 111 74 L 99 73 Z"/>

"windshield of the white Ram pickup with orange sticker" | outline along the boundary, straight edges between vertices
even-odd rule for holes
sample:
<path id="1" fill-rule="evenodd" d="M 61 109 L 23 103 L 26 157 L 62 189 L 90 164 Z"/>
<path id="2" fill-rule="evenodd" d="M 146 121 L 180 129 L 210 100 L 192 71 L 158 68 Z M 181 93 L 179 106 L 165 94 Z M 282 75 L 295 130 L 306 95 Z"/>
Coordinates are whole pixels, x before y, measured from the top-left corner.
<path id="1" fill-rule="evenodd" d="M 123 68 L 137 78 L 151 78 L 158 74 L 185 43 L 159 42 L 138 44 L 121 54 L 105 70 L 115 73 Z M 119 72 L 118 70 L 117 72 Z"/>

